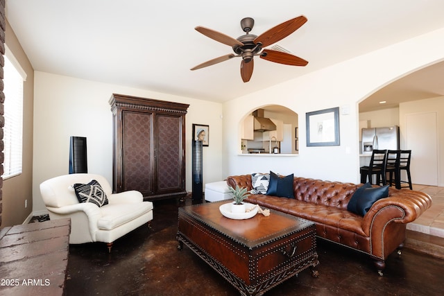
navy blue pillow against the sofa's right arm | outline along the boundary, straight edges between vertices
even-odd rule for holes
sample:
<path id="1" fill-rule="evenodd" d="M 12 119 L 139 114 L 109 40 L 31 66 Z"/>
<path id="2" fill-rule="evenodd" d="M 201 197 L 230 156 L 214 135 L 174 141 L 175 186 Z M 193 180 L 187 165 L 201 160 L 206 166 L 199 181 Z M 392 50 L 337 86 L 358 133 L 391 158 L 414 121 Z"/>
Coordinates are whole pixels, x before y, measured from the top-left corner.
<path id="1" fill-rule="evenodd" d="M 365 216 L 377 200 L 388 196 L 388 185 L 375 188 L 363 188 L 364 186 L 359 188 L 361 190 L 358 189 L 355 191 L 352 198 L 350 198 L 350 202 L 352 202 L 352 206 L 355 204 L 355 208 L 353 209 L 352 206 L 350 206 L 350 202 L 348 202 L 347 206 L 348 211 L 360 216 Z"/>

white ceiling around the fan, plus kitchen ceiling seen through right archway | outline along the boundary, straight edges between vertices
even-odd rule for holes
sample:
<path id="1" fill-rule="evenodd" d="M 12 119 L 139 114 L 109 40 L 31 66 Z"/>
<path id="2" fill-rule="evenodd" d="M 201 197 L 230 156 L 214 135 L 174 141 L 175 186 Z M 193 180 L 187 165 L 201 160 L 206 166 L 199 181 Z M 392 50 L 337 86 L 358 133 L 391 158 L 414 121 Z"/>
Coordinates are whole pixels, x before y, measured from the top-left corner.
<path id="1" fill-rule="evenodd" d="M 36 71 L 216 102 L 443 28 L 443 12 L 443 0 L 6 0 L 6 18 Z M 259 35 L 299 15 L 307 23 L 278 44 L 308 60 L 307 67 L 256 57 L 247 83 L 236 58 L 189 70 L 232 53 L 194 27 L 237 38 L 244 17 L 255 19 L 251 33 Z M 360 110 L 379 108 L 370 101 L 382 98 L 444 96 L 443 69 L 444 62 L 412 73 Z"/>

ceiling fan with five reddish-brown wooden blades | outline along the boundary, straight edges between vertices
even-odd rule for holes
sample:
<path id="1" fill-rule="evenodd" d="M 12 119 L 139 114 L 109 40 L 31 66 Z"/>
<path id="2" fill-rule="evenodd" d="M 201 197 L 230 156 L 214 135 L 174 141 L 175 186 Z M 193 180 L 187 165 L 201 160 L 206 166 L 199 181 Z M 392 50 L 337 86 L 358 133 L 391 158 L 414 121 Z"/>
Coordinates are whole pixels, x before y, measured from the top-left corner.
<path id="1" fill-rule="evenodd" d="M 264 47 L 274 44 L 284 39 L 284 37 L 287 37 L 294 31 L 298 30 L 298 28 L 305 24 L 306 21 L 307 18 L 301 15 L 300 17 L 285 21 L 282 24 L 279 24 L 278 26 L 275 26 L 265 33 L 257 36 L 250 34 L 250 31 L 253 29 L 253 26 L 255 24 L 255 20 L 251 17 L 246 17 L 241 20 L 241 28 L 246 34 L 238 37 L 237 39 L 214 31 L 210 28 L 197 26 L 195 28 L 196 31 L 202 33 L 207 37 L 210 37 L 213 40 L 216 40 L 217 42 L 232 46 L 234 54 L 230 53 L 228 55 L 222 55 L 219 58 L 208 60 L 207 62 L 203 62 L 202 64 L 198 64 L 196 67 L 191 68 L 191 70 L 201 69 L 211 66 L 212 64 L 217 64 L 219 62 L 224 62 L 225 60 L 230 60 L 231 58 L 241 57 L 241 77 L 244 82 L 248 82 L 253 75 L 253 57 L 255 55 L 259 55 L 259 58 L 262 58 L 264 60 L 277 62 L 279 64 L 289 64 L 291 66 L 306 66 L 308 64 L 306 60 L 298 58 L 296 55 L 292 55 L 291 53 L 276 51 L 273 49 L 263 49 Z"/>

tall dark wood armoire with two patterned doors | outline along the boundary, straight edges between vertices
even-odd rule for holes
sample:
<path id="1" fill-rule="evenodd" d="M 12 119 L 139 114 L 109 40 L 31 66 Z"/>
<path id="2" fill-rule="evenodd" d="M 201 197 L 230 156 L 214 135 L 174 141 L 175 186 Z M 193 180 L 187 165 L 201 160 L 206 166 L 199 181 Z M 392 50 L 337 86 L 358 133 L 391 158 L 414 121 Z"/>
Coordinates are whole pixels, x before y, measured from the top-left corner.
<path id="1" fill-rule="evenodd" d="M 112 94 L 113 191 L 142 192 L 144 200 L 183 198 L 185 114 L 182 103 Z"/>

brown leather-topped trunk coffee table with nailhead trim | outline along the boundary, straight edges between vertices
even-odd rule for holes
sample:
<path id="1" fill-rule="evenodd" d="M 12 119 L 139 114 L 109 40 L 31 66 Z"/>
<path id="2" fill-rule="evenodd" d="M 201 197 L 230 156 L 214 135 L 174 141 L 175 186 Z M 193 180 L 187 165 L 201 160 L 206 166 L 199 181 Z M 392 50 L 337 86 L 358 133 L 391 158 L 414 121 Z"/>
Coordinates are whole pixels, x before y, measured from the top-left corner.
<path id="1" fill-rule="evenodd" d="M 267 217 L 225 218 L 219 207 L 227 202 L 181 207 L 179 250 L 185 243 L 242 295 L 262 295 L 309 267 L 318 276 L 314 223 L 273 210 Z"/>

